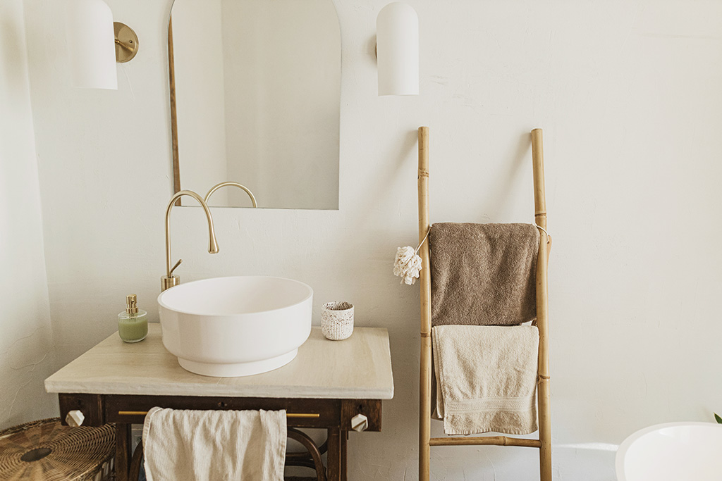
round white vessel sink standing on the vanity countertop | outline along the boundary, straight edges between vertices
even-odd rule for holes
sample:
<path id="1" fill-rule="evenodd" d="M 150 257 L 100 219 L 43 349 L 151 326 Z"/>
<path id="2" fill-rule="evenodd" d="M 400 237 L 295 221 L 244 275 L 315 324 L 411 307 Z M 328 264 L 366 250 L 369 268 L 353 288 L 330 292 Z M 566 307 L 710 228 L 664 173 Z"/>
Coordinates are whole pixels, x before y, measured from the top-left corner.
<path id="1" fill-rule="evenodd" d="M 158 296 L 163 345 L 183 369 L 250 376 L 290 363 L 311 331 L 313 289 L 277 277 L 221 277 Z"/>

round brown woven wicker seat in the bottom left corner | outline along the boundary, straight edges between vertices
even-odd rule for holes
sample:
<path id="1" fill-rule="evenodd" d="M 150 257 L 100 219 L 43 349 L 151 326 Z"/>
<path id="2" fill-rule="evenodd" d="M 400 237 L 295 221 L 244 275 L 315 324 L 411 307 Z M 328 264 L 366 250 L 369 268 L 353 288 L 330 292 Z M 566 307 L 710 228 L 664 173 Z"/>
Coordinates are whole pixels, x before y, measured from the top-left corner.
<path id="1" fill-rule="evenodd" d="M 0 431 L 0 480 L 107 480 L 116 428 L 69 428 L 59 418 Z"/>

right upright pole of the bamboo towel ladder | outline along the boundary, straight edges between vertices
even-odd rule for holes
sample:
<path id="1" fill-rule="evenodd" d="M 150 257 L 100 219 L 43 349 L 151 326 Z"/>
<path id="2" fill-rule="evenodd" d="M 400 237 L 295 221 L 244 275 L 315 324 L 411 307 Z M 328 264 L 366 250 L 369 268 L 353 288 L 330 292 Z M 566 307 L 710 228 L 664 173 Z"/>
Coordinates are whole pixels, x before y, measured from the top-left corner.
<path id="1" fill-rule="evenodd" d="M 534 166 L 534 219 L 547 229 L 547 200 L 544 192 L 544 145 L 541 128 L 531 131 L 531 159 Z M 536 327 L 539 328 L 539 366 L 536 400 L 539 409 L 539 472 L 541 481 L 552 481 L 552 421 L 549 412 L 549 299 L 547 267 L 549 239 L 539 230 L 536 257 Z"/>

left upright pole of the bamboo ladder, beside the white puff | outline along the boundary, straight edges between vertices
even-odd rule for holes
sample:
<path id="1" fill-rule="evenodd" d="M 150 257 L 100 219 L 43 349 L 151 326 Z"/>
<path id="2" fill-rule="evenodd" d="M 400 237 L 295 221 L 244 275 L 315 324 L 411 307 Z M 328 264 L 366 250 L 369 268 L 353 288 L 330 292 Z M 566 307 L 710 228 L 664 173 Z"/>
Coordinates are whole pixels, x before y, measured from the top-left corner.
<path id="1" fill-rule="evenodd" d="M 429 128 L 419 127 L 419 243 L 429 229 Z M 419 367 L 419 481 L 430 476 L 431 437 L 431 268 L 429 242 L 419 250 L 421 256 L 421 363 Z"/>

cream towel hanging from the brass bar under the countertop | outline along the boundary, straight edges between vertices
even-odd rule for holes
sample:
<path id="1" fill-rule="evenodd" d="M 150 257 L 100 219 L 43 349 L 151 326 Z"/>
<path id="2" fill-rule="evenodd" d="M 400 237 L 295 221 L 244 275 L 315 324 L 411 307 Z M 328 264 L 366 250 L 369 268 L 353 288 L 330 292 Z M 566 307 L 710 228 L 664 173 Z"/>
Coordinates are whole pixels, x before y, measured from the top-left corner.
<path id="1" fill-rule="evenodd" d="M 143 425 L 148 481 L 283 481 L 286 411 L 153 407 Z"/>

